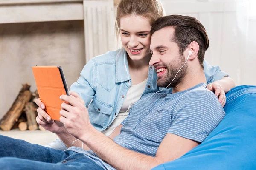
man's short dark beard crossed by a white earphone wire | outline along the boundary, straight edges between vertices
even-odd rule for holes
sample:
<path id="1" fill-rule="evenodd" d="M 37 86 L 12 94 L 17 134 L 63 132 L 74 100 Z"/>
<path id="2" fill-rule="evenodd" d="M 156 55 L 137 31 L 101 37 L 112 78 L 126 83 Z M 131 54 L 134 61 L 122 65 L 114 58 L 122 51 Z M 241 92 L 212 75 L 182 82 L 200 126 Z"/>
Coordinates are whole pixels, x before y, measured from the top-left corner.
<path id="1" fill-rule="evenodd" d="M 170 62 L 167 65 L 167 76 L 162 77 L 161 79 L 157 79 L 157 85 L 159 87 L 168 87 L 168 88 L 176 87 L 180 82 L 182 82 L 184 76 L 186 75 L 188 65 L 186 64 L 184 65 L 185 62 L 186 62 L 186 59 L 184 57 L 182 56 L 176 57 L 174 61 Z M 183 68 L 180 70 L 182 66 Z M 177 74 L 178 71 L 179 73 Z M 175 77 L 176 74 L 177 76 Z M 172 83 L 170 84 L 170 82 Z"/>

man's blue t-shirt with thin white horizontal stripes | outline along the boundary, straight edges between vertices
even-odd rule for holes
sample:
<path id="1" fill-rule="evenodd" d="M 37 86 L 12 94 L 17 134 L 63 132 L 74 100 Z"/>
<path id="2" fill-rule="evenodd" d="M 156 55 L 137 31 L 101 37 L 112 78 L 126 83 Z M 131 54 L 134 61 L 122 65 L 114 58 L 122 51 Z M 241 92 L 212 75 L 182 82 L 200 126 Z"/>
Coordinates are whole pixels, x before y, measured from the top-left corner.
<path id="1" fill-rule="evenodd" d="M 134 105 L 114 142 L 155 156 L 167 133 L 203 142 L 225 116 L 218 98 L 204 83 L 174 94 L 153 94 L 146 94 Z M 77 147 L 68 150 L 84 153 L 103 168 L 113 169 L 91 150 L 87 152 Z"/>

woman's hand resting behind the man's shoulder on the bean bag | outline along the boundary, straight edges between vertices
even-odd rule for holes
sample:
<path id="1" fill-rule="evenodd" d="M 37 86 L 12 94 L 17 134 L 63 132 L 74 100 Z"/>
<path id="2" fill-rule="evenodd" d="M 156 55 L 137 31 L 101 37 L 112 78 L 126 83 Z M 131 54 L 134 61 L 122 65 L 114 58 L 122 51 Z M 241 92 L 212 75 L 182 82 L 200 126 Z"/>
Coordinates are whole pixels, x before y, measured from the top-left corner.
<path id="1" fill-rule="evenodd" d="M 218 97 L 219 102 L 224 107 L 224 105 L 226 104 L 226 94 L 224 88 L 221 87 L 218 81 L 210 83 L 209 85 L 207 85 L 207 88 L 215 93 L 215 95 Z"/>

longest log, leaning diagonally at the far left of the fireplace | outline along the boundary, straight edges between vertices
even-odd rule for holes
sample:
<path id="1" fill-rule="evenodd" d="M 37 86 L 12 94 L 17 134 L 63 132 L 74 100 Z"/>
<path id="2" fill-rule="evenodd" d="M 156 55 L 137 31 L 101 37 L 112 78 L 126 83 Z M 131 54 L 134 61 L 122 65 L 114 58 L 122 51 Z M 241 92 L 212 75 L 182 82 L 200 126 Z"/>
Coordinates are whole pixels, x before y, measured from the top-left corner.
<path id="1" fill-rule="evenodd" d="M 25 104 L 31 99 L 31 92 L 29 90 L 24 91 L 24 89 L 27 89 L 28 86 L 28 84 L 23 85 L 19 92 L 19 95 L 15 99 L 15 102 L 12 104 L 11 108 L 5 114 L 5 116 L 3 116 L 3 118 L 1 119 L 0 128 L 2 130 L 11 130 L 17 119 L 20 117 L 23 108 L 25 107 Z"/>

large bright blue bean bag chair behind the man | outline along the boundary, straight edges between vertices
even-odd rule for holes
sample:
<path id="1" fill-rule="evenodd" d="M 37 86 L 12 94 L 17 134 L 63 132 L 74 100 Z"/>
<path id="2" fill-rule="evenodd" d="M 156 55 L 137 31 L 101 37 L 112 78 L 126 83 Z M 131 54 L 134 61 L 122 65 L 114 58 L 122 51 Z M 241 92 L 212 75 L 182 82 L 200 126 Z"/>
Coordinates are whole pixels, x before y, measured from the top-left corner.
<path id="1" fill-rule="evenodd" d="M 153 170 L 256 170 L 256 86 L 226 96 L 226 116 L 204 142 Z"/>

